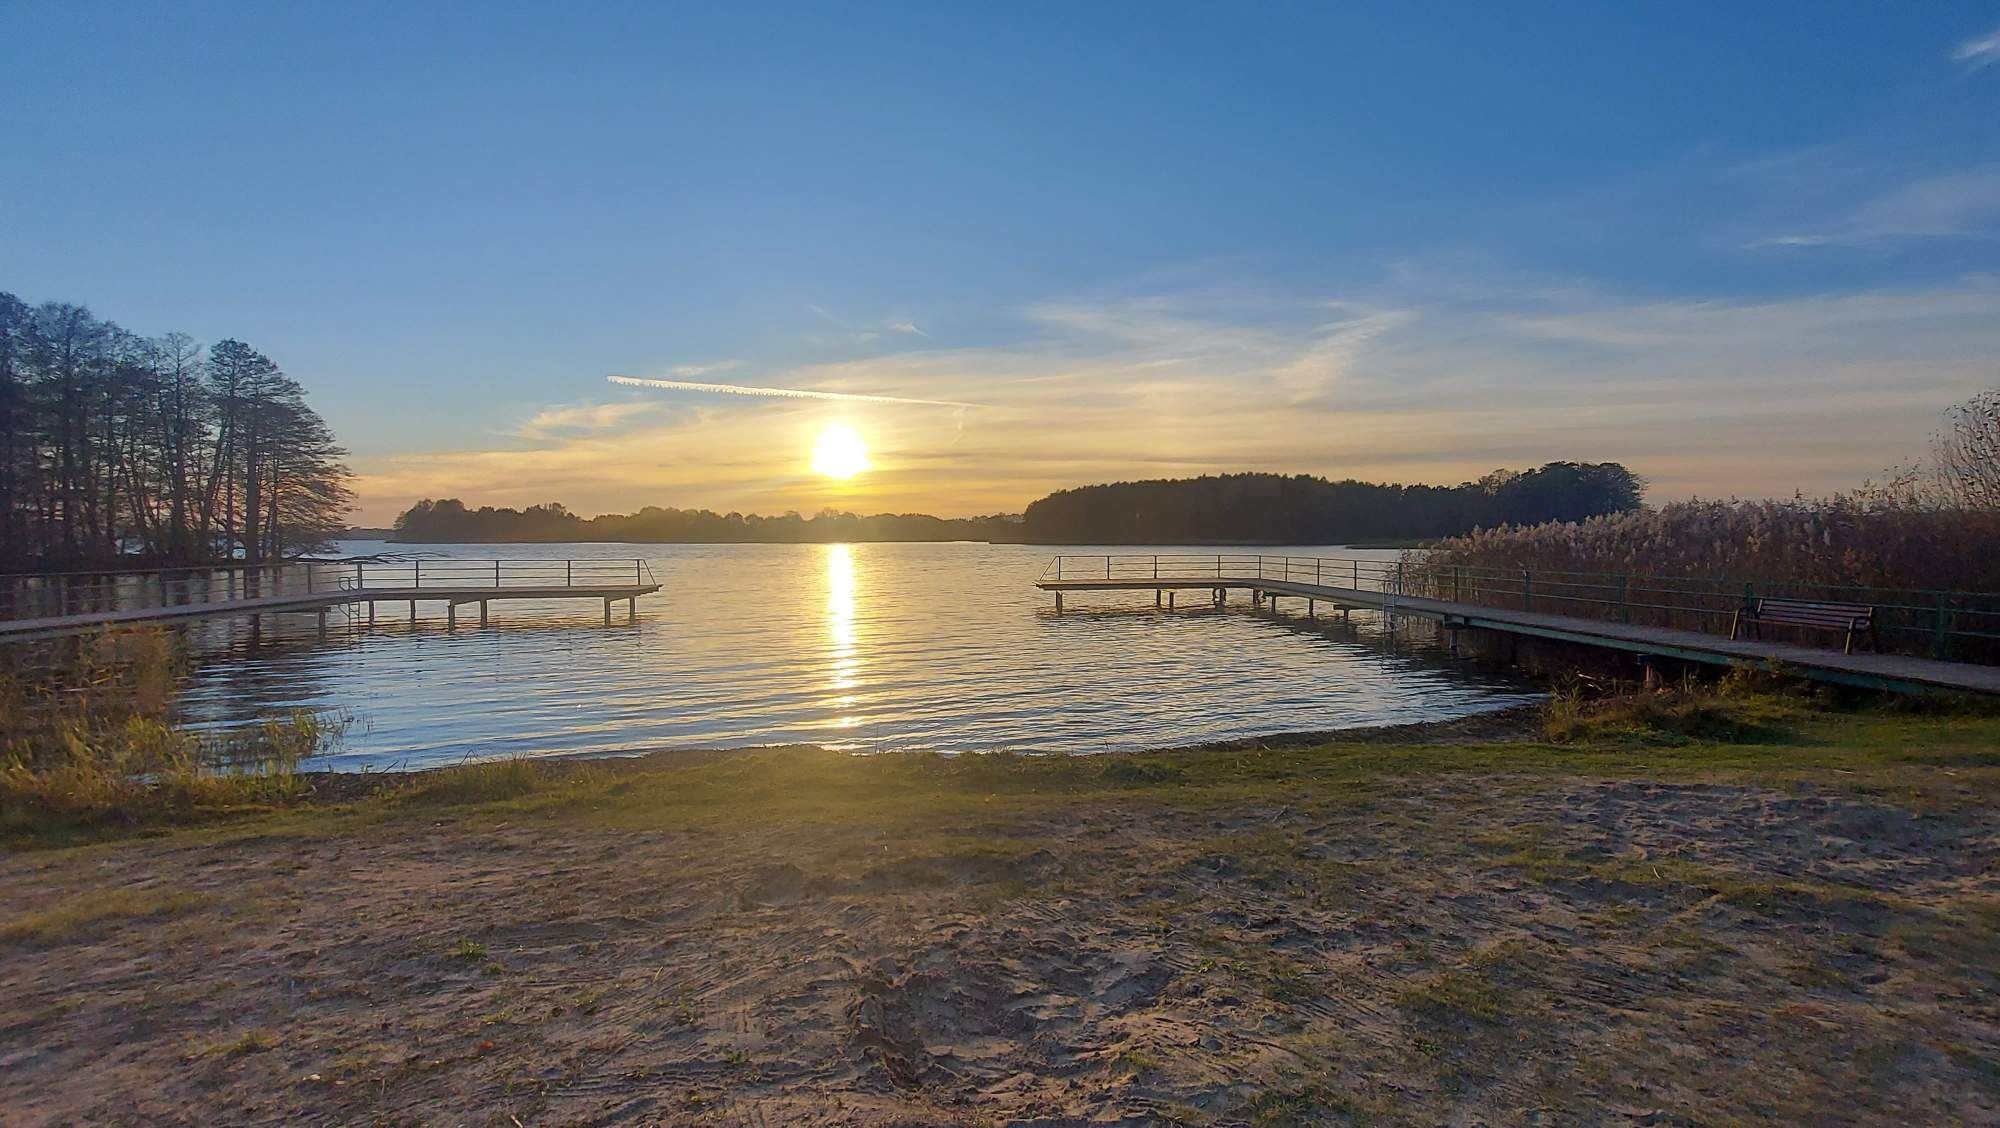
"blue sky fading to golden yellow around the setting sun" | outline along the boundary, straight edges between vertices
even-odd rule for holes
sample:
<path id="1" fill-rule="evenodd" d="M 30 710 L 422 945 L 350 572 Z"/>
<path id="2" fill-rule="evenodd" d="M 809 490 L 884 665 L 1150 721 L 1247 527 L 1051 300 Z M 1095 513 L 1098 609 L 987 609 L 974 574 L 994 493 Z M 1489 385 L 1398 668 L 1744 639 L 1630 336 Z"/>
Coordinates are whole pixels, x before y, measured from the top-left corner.
<path id="1" fill-rule="evenodd" d="M 258 346 L 360 524 L 1558 458 L 1818 496 L 2000 386 L 2000 2 L 0 24 L 0 290 Z M 870 470 L 812 472 L 832 424 Z"/>

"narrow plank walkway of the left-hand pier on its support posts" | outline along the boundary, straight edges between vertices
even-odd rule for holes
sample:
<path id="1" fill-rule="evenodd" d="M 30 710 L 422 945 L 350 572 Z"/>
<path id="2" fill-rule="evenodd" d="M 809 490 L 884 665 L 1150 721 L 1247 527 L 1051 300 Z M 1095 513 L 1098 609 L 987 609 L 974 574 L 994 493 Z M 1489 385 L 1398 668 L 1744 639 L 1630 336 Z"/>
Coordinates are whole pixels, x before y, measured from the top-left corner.
<path id="1" fill-rule="evenodd" d="M 504 582 L 498 570 L 486 572 L 486 562 L 478 562 L 480 576 L 494 576 L 494 582 L 470 582 L 470 572 L 458 568 L 452 574 L 446 566 L 446 576 L 436 576 L 434 582 L 422 582 L 424 576 L 416 574 L 414 584 L 390 582 L 382 586 L 350 584 L 344 582 L 344 574 L 336 574 L 332 584 L 326 588 L 314 588 L 308 578 L 308 590 L 302 592 L 282 592 L 272 596 L 244 596 L 244 598 L 204 598 L 190 602 L 162 602 L 154 606 L 100 610 L 100 612 L 78 612 L 78 614 L 58 614 L 58 616 L 34 616 L 34 618 L 0 618 L 0 642 L 30 642 L 38 638 L 60 638 L 66 634 L 90 634 L 96 630 L 116 628 L 116 626 L 138 626 L 138 624 L 180 624 L 210 618 L 248 618 L 252 626 L 260 624 L 266 614 L 314 614 L 318 616 L 320 636 L 326 636 L 326 614 L 334 608 L 362 606 L 368 608 L 368 622 L 376 620 L 376 604 L 410 604 L 410 620 L 416 620 L 416 604 L 420 602 L 442 602 L 446 606 L 446 626 L 458 626 L 458 608 L 466 604 L 480 606 L 480 626 L 488 622 L 486 604 L 494 600 L 604 600 L 604 624 L 612 622 L 612 604 L 624 600 L 628 618 L 638 616 L 638 598 L 650 596 L 660 590 L 660 584 L 652 582 L 648 570 L 640 564 L 638 568 L 622 568 L 622 580 L 610 582 L 574 582 L 578 568 L 570 566 L 566 560 L 528 562 L 530 568 L 544 568 L 550 574 L 548 582 Z M 588 562 L 596 566 L 600 562 Z M 440 566 L 432 566 L 436 574 Z M 562 580 L 556 580 L 558 574 Z M 322 578 L 328 576 L 328 568 L 322 566 Z M 378 576 L 384 570 L 378 568 Z M 586 568 L 588 572 L 588 568 Z M 310 576 L 310 574 L 308 574 Z M 594 576 L 586 576 L 594 578 Z M 276 584 L 282 586 L 282 584 Z"/>

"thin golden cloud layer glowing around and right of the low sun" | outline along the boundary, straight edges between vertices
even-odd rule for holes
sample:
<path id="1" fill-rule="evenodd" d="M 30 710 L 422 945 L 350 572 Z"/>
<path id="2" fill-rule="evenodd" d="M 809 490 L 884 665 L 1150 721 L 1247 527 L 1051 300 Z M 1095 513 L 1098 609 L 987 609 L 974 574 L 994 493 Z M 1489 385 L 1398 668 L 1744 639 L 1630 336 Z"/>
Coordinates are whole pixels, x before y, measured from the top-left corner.
<path id="1" fill-rule="evenodd" d="M 396 498 L 384 516 L 418 494 L 968 514 L 1136 476 L 1458 482 L 1580 458 L 1622 460 L 1660 498 L 1788 496 L 1918 454 L 1946 404 L 2000 382 L 2000 286 L 1978 280 L 1634 300 L 1574 280 L 1398 274 L 1342 294 L 1068 296 L 1016 318 L 1006 344 L 758 376 L 766 392 L 838 398 L 556 406 L 510 448 L 382 460 L 362 488 Z M 868 436 L 876 472 L 830 484 L 806 470 L 832 420 Z"/>

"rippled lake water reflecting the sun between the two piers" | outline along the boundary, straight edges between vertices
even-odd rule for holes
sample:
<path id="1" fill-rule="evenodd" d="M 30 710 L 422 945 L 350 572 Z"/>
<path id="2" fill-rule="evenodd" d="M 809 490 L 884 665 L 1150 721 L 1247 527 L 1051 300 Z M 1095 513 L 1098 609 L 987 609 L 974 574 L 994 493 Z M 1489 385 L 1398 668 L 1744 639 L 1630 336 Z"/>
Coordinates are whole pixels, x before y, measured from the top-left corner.
<path id="1" fill-rule="evenodd" d="M 408 604 L 382 604 L 376 626 L 334 618 L 326 642 L 310 616 L 280 616 L 254 648 L 242 624 L 204 624 L 190 636 L 190 720 L 330 710 L 350 730 L 312 766 L 358 770 L 756 744 L 1106 752 L 1440 720 L 1536 696 L 1436 646 L 1388 638 L 1374 616 L 1308 624 L 1248 614 L 1240 596 L 1218 612 L 1206 592 L 1184 592 L 1174 614 L 1154 612 L 1150 592 L 1072 594 L 1058 616 L 1032 586 L 1056 552 L 1042 546 L 342 550 L 644 556 L 664 590 L 638 602 L 634 624 L 618 604 L 610 628 L 596 600 L 496 602 L 486 628 L 460 608 L 450 632 L 442 606 L 420 606 L 412 624 Z"/>

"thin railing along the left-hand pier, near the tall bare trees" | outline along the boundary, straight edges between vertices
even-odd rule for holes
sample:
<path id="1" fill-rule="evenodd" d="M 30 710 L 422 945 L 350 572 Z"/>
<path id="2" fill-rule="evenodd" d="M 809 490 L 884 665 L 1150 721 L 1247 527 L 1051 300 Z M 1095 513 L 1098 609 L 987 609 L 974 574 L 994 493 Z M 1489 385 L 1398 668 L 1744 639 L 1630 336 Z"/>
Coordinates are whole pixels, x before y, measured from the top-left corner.
<path id="1" fill-rule="evenodd" d="M 286 560 L 0 576 L 0 620 L 54 618 L 358 588 L 626 588 L 656 584 L 646 560 Z"/>

